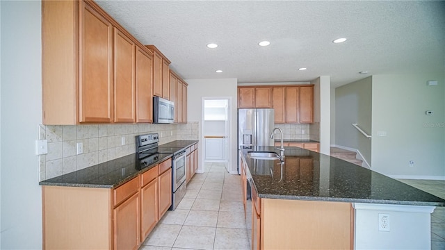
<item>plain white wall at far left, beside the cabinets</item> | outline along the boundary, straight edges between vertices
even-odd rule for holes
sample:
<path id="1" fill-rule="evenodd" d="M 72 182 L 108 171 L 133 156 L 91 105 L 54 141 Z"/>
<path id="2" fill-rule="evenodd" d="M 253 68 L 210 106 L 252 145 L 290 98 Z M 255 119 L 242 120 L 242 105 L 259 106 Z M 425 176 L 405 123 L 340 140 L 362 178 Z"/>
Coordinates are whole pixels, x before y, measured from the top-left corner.
<path id="1" fill-rule="evenodd" d="M 1 249 L 42 248 L 35 140 L 42 123 L 40 1 L 1 5 Z"/>

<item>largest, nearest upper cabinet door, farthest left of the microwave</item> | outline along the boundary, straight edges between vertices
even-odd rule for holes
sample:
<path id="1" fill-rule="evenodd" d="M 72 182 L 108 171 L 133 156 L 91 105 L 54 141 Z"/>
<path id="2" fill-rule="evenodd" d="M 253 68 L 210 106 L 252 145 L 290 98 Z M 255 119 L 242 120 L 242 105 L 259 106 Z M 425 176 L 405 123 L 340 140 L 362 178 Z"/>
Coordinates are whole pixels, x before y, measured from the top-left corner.
<path id="1" fill-rule="evenodd" d="M 113 122 L 113 26 L 81 2 L 79 122 Z"/>

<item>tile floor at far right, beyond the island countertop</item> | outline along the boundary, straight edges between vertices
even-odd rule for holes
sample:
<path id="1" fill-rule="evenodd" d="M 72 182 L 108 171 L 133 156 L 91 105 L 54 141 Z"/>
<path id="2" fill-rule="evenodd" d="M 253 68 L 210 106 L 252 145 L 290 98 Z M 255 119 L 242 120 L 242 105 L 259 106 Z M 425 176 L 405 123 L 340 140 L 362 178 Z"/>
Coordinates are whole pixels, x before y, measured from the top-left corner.
<path id="1" fill-rule="evenodd" d="M 445 181 L 399 180 L 414 188 L 419 188 L 445 199 Z M 445 207 L 437 207 L 431 214 L 431 250 L 445 249 Z"/>

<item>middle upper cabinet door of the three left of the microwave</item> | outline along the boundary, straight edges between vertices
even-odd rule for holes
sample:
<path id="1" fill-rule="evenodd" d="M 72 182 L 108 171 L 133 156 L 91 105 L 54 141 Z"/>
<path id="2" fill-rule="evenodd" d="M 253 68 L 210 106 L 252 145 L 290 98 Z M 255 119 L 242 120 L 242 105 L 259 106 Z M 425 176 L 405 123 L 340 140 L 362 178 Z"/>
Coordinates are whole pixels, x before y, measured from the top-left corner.
<path id="1" fill-rule="evenodd" d="M 114 122 L 135 119 L 135 44 L 114 28 Z"/>

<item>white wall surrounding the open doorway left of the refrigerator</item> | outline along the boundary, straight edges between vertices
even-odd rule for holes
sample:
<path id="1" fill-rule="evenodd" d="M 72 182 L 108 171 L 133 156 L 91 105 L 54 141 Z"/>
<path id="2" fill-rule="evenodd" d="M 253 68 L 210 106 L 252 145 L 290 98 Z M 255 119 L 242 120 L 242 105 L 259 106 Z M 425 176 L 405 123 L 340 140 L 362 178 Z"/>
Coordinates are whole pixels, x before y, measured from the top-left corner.
<path id="1" fill-rule="evenodd" d="M 187 116 L 188 122 L 200 122 L 200 128 L 202 128 L 202 97 L 232 97 L 232 103 L 230 103 L 230 109 L 232 112 L 232 126 L 231 126 L 231 169 L 230 172 L 236 172 L 237 169 L 237 148 L 236 148 L 236 136 L 237 136 L 237 99 L 238 94 L 237 80 L 236 78 L 225 79 L 187 79 Z M 200 131 L 200 149 L 204 149 L 204 141 L 202 140 L 202 131 Z M 199 151 L 199 172 L 204 171 L 204 154 L 202 150 Z"/>

